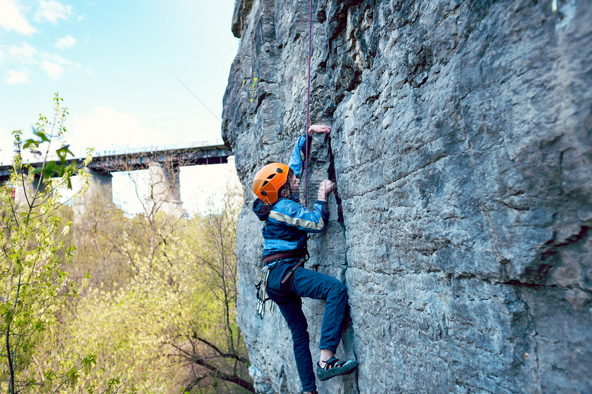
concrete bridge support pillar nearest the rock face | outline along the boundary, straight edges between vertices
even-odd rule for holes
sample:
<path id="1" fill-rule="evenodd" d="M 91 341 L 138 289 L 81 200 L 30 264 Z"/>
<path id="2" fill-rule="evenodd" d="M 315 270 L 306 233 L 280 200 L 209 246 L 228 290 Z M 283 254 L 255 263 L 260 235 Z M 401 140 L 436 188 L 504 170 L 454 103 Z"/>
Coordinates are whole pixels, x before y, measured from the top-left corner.
<path id="1" fill-rule="evenodd" d="M 184 211 L 181 202 L 180 168 L 178 164 L 150 162 L 149 204 L 152 212 L 165 212 L 180 216 Z"/>

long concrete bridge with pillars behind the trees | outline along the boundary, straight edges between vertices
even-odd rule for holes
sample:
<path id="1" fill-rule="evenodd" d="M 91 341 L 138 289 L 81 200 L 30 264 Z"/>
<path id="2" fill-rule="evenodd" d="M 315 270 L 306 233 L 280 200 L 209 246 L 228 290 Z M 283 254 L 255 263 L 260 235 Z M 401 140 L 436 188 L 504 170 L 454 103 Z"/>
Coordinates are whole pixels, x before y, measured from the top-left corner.
<path id="1" fill-rule="evenodd" d="M 93 156 L 87 172 L 93 177 L 93 184 L 87 193 L 94 193 L 98 185 L 107 190 L 112 188 L 112 173 L 120 171 L 149 170 L 149 198 L 152 206 L 159 210 L 178 214 L 182 212 L 179 174 L 182 166 L 207 164 L 224 164 L 228 162 L 231 151 L 221 142 L 194 142 L 184 146 L 167 145 L 153 146 L 144 149 L 128 149 L 127 151 L 103 151 Z M 83 157 L 69 160 L 80 164 Z M 30 163 L 33 167 L 41 166 L 41 162 Z M 0 166 L 0 182 L 10 178 L 12 165 Z M 17 196 L 24 193 L 17 188 Z"/>

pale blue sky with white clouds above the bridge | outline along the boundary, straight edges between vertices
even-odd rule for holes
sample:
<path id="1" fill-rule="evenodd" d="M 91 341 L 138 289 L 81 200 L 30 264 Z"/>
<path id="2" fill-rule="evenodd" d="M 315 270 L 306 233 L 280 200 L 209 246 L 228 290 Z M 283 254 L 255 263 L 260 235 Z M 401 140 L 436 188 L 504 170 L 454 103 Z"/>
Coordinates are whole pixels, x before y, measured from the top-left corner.
<path id="1" fill-rule="evenodd" d="M 29 133 L 39 113 L 50 114 L 55 92 L 70 110 L 74 153 L 221 140 L 222 96 L 238 49 L 233 7 L 0 0 L 0 162 L 12 155 L 10 131 Z"/>

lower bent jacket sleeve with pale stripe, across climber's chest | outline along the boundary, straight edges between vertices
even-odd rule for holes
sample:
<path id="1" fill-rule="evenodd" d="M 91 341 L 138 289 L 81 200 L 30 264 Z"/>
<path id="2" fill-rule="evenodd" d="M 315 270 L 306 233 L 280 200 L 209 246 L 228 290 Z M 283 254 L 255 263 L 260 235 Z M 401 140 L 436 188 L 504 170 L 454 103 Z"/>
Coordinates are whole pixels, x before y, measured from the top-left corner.
<path id="1" fill-rule="evenodd" d="M 329 221 L 329 208 L 326 201 L 317 201 L 313 210 L 308 210 L 295 201 L 287 201 L 289 203 L 276 205 L 269 213 L 269 219 L 306 232 L 323 232 L 326 229 Z"/>

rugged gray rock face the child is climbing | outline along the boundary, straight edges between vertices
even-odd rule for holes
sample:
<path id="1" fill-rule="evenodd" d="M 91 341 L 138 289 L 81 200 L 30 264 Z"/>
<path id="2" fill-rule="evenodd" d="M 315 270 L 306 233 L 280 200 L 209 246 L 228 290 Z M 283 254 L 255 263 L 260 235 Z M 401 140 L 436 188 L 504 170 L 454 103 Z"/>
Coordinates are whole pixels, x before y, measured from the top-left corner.
<path id="1" fill-rule="evenodd" d="M 335 179 L 343 226 L 333 198 L 308 267 L 348 286 L 338 356 L 360 362 L 319 393 L 592 392 L 592 3 L 551 3 L 314 2 L 311 123 L 333 131 L 309 203 Z M 239 0 L 233 32 L 223 137 L 252 201 L 305 129 L 308 1 Z M 246 204 L 239 324 L 257 390 L 298 393 L 286 323 L 255 316 L 261 227 Z"/>

